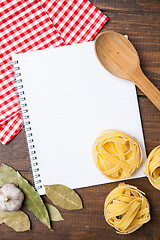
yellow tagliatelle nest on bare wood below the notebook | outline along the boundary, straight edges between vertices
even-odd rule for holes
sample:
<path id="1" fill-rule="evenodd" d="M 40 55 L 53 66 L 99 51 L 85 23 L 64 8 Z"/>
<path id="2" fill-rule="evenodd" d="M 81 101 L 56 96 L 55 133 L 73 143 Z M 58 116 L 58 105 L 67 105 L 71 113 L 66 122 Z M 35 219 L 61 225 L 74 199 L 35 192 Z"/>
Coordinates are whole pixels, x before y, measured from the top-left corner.
<path id="1" fill-rule="evenodd" d="M 150 220 L 149 202 L 136 187 L 121 183 L 105 200 L 104 215 L 117 233 L 129 234 Z"/>

